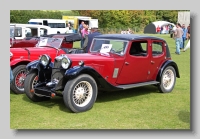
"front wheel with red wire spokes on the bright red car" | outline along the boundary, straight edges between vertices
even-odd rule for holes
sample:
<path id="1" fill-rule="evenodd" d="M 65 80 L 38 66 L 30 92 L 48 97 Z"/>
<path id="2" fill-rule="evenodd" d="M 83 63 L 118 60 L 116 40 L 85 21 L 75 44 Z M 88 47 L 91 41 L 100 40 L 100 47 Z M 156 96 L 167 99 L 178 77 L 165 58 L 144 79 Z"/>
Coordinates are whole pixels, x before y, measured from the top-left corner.
<path id="1" fill-rule="evenodd" d="M 13 69 L 13 80 L 10 83 L 10 89 L 15 94 L 24 94 L 24 80 L 26 74 L 26 65 L 19 65 Z M 17 85 L 18 84 L 18 85 Z"/>

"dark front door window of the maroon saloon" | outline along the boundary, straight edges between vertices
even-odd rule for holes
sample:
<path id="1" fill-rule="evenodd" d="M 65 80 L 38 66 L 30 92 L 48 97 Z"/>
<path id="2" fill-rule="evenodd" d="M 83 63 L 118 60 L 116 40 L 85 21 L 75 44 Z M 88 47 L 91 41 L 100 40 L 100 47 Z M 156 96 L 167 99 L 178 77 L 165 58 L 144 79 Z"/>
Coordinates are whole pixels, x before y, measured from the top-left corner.
<path id="1" fill-rule="evenodd" d="M 147 44 L 147 41 L 132 42 L 129 54 L 133 56 L 147 56 Z"/>

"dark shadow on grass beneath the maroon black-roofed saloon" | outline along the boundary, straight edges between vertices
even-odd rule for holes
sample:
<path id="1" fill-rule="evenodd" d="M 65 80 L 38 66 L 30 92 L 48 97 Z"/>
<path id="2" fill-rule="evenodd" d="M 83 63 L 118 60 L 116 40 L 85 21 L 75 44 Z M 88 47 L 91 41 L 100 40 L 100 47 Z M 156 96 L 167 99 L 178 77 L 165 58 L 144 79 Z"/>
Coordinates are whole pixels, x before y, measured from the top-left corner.
<path id="1" fill-rule="evenodd" d="M 136 97 L 136 96 L 141 96 L 141 95 L 155 93 L 155 92 L 158 92 L 158 89 L 155 86 L 138 87 L 138 88 L 128 89 L 128 90 L 124 90 L 124 91 L 114 91 L 114 92 L 102 92 L 101 91 L 98 94 L 97 100 L 96 100 L 95 103 L 104 103 L 104 102 L 108 102 L 108 101 L 116 101 L 116 100 L 119 100 L 119 99 Z M 54 97 L 54 98 L 52 98 L 48 101 L 33 102 L 26 96 L 26 94 L 24 94 L 23 100 L 28 102 L 28 103 L 32 103 L 34 105 L 37 104 L 37 105 L 47 107 L 47 108 L 59 106 L 59 109 L 61 111 L 71 113 L 71 111 L 65 106 L 62 97 Z"/>

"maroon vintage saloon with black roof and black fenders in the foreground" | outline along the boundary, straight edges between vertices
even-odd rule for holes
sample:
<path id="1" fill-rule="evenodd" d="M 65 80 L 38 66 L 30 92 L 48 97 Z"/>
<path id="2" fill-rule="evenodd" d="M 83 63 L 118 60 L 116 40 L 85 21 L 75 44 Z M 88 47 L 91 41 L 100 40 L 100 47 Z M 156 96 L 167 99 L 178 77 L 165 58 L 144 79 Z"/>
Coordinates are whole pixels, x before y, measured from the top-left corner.
<path id="1" fill-rule="evenodd" d="M 154 85 L 168 93 L 176 77 L 180 78 L 165 40 L 134 34 L 99 35 L 89 53 L 61 54 L 55 59 L 46 53 L 26 68 L 25 93 L 30 100 L 62 96 L 66 107 L 75 113 L 91 109 L 98 90 Z"/>

